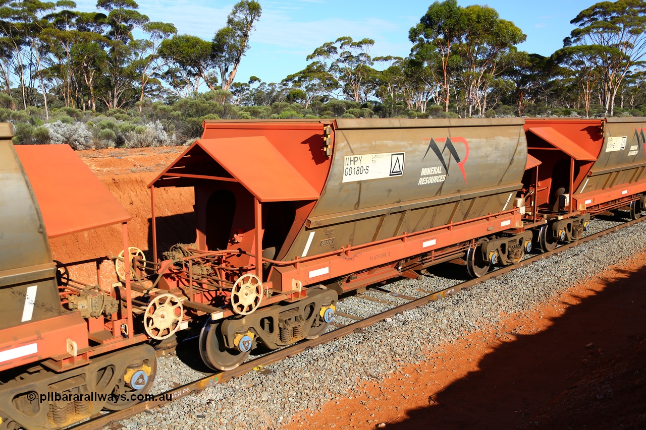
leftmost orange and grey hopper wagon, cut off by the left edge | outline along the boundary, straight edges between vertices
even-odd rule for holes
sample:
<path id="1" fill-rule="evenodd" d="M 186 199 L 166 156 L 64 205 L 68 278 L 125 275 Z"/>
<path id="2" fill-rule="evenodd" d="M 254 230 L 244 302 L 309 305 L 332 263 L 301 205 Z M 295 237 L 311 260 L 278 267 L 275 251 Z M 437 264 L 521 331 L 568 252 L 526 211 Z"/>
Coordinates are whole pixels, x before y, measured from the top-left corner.
<path id="1" fill-rule="evenodd" d="M 0 124 L 0 428 L 54 429 L 138 402 L 155 355 L 134 329 L 129 276 L 108 291 L 106 257 L 50 252 L 52 237 L 112 224 L 127 247 L 130 215 L 68 145 L 14 148 L 12 136 Z M 96 263 L 98 282 L 70 279 L 77 263 Z"/>

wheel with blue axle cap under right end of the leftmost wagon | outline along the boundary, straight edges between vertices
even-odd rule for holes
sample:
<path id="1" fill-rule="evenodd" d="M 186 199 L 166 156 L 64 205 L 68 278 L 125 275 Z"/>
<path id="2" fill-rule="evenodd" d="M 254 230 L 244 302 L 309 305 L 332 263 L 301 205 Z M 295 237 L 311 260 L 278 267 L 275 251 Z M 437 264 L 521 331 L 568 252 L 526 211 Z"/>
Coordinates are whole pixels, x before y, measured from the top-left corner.
<path id="1" fill-rule="evenodd" d="M 155 350 L 150 345 L 141 345 L 132 348 L 131 351 L 133 357 L 127 363 L 123 376 L 112 389 L 112 400 L 106 402 L 103 409 L 121 411 L 139 403 L 143 400 L 141 396 L 151 389 L 157 373 Z"/>

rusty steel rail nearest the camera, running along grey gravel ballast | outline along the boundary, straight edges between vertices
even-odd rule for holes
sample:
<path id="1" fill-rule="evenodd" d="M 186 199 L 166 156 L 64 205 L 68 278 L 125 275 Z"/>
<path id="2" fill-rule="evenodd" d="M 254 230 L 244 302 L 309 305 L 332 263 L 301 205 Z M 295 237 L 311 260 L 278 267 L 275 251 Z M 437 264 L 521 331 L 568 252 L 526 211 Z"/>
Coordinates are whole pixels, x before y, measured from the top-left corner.
<path id="1" fill-rule="evenodd" d="M 232 378 L 236 378 L 245 373 L 249 373 L 253 371 L 255 367 L 258 367 L 258 366 L 264 367 L 266 365 L 279 362 L 280 360 L 283 360 L 286 357 L 293 356 L 302 351 L 305 351 L 307 348 L 315 347 L 322 343 L 331 342 L 332 340 L 341 338 L 342 336 L 346 336 L 346 334 L 352 333 L 355 330 L 363 329 L 364 327 L 373 325 L 374 323 L 385 320 L 386 318 L 391 318 L 401 312 L 410 311 L 417 307 L 426 305 L 435 300 L 439 300 L 445 296 L 454 294 L 455 292 L 461 291 L 463 289 L 467 289 L 469 287 L 473 287 L 474 285 L 477 285 L 478 283 L 486 281 L 490 278 L 501 276 L 502 274 L 510 272 L 513 269 L 517 269 L 519 267 L 529 265 L 534 261 L 543 260 L 545 258 L 558 254 L 559 252 L 563 252 L 572 247 L 576 247 L 583 243 L 587 243 L 589 241 L 595 240 L 601 236 L 605 236 L 606 234 L 609 234 L 610 232 L 623 229 L 624 227 L 629 227 L 630 225 L 633 225 L 643 220 L 644 218 L 638 218 L 638 220 L 631 220 L 625 223 L 621 223 L 619 225 L 615 225 L 613 227 L 610 227 L 609 229 L 601 230 L 597 233 L 590 234 L 590 236 L 581 238 L 578 241 L 559 245 L 553 251 L 543 252 L 541 254 L 537 254 L 536 256 L 525 258 L 525 260 L 521 260 L 518 263 L 508 265 L 505 267 L 500 267 L 498 269 L 495 269 L 494 271 L 488 272 L 487 274 L 485 274 L 484 276 L 481 276 L 480 278 L 474 278 L 462 283 L 458 283 L 457 285 L 453 285 L 452 287 L 448 287 L 441 291 L 436 291 L 436 292 L 433 292 L 432 294 L 428 294 L 427 296 L 417 298 L 415 300 L 411 300 L 410 302 L 407 302 L 407 303 L 403 303 L 402 305 L 398 305 L 396 307 L 388 309 L 388 311 L 380 312 L 379 314 L 375 314 L 368 318 L 363 318 L 356 322 L 349 323 L 348 325 L 344 325 L 342 327 L 329 331 L 328 333 L 321 334 L 316 339 L 303 340 L 293 345 L 289 345 L 287 347 L 279 349 L 277 351 L 268 353 L 264 356 L 255 358 L 254 360 L 249 360 L 248 362 L 242 363 L 240 366 L 236 367 L 236 369 L 233 369 L 231 371 L 214 373 L 209 376 L 205 376 L 204 378 L 195 380 L 193 382 L 189 382 L 189 384 L 181 385 L 180 387 L 176 387 L 171 390 L 164 391 L 163 393 L 160 393 L 160 394 L 155 394 L 156 398 L 160 398 L 163 395 L 164 398 L 170 397 L 171 400 L 147 400 L 144 402 L 140 402 L 136 405 L 127 407 L 126 409 L 122 409 L 121 411 L 115 411 L 115 412 L 110 412 L 103 415 L 91 417 L 89 420 L 67 427 L 67 430 L 103 429 L 103 427 L 105 427 L 106 425 L 109 425 L 112 422 L 125 420 L 126 418 L 130 418 L 131 416 L 143 413 L 144 411 L 149 411 L 151 409 L 155 409 L 156 407 L 169 404 L 170 402 L 174 400 L 178 400 L 182 397 L 199 393 L 200 391 L 202 391 L 207 387 L 212 387 L 213 385 L 221 384 L 222 382 L 227 382 Z"/>

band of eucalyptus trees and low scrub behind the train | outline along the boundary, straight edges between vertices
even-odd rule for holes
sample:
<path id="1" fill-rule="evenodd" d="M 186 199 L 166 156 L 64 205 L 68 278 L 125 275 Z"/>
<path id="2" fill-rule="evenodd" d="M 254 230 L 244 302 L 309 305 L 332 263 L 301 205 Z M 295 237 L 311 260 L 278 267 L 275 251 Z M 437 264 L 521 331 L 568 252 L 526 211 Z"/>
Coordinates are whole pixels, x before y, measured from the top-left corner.
<path id="1" fill-rule="evenodd" d="M 373 57 L 374 39 L 340 34 L 279 83 L 236 79 L 259 1 L 235 3 L 211 40 L 151 21 L 135 0 L 96 6 L 0 0 L 0 121 L 18 143 L 74 127 L 75 142 L 180 141 L 209 118 L 646 115 L 645 0 L 581 10 L 550 56 L 519 50 L 525 34 L 494 8 L 438 0 L 410 28 L 408 56 Z"/>

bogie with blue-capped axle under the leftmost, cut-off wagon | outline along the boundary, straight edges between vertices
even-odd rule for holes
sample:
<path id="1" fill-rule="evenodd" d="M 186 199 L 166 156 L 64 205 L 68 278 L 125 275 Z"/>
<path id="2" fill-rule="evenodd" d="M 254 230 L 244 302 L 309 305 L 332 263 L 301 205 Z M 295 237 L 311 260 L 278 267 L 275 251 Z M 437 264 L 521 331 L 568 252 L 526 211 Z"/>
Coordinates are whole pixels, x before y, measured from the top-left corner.
<path id="1" fill-rule="evenodd" d="M 57 429 L 101 409 L 125 409 L 142 400 L 155 373 L 150 345 L 93 357 L 88 365 L 63 373 L 32 367 L 0 384 L 0 429 Z"/>

